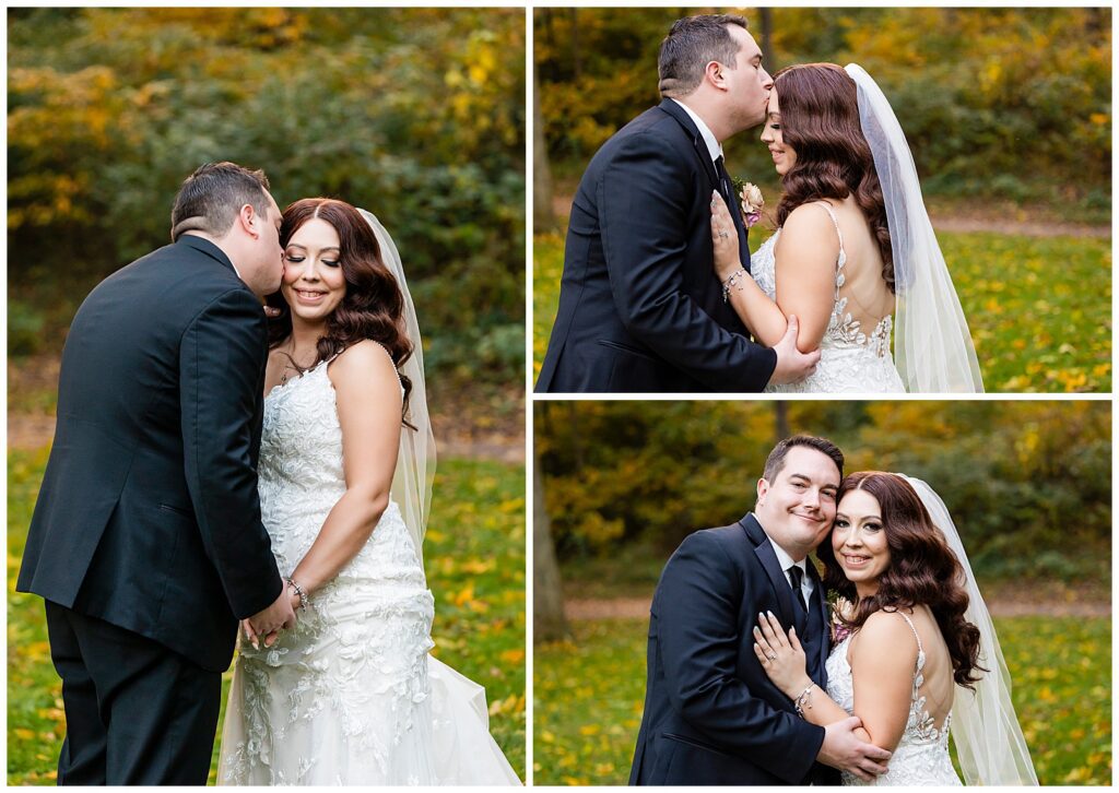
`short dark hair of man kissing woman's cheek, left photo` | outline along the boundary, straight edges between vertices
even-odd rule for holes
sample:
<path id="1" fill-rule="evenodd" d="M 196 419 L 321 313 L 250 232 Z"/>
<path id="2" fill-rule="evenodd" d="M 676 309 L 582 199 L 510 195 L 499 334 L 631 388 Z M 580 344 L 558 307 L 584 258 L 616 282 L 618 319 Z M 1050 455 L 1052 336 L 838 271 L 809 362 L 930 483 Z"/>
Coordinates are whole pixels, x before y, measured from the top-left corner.
<path id="1" fill-rule="evenodd" d="M 246 204 L 267 217 L 269 178 L 236 162 L 207 162 L 182 180 L 171 208 L 171 242 L 184 232 L 225 235 Z"/>

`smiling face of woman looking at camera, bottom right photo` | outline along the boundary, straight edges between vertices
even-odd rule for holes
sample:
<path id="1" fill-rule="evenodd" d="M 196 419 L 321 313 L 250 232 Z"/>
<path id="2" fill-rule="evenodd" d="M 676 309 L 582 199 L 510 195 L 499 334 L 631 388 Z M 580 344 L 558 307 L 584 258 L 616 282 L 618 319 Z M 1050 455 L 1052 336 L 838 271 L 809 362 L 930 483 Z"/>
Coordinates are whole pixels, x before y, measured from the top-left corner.
<path id="1" fill-rule="evenodd" d="M 890 546 L 878 500 L 865 490 L 850 490 L 836 508 L 831 550 L 859 597 L 874 594 L 890 567 Z"/>

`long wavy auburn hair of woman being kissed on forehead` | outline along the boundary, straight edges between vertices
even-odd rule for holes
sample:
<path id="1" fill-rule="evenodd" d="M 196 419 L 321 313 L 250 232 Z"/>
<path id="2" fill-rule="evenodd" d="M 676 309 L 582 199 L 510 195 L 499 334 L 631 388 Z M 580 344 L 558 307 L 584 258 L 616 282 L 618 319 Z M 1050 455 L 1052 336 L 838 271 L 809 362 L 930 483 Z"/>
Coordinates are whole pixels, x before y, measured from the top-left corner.
<path id="1" fill-rule="evenodd" d="M 781 177 L 784 195 L 777 225 L 801 204 L 854 196 L 882 254 L 882 277 L 891 292 L 894 258 L 882 186 L 858 120 L 858 88 L 835 64 L 799 64 L 773 76 L 781 105 L 781 139 L 797 161 Z"/>

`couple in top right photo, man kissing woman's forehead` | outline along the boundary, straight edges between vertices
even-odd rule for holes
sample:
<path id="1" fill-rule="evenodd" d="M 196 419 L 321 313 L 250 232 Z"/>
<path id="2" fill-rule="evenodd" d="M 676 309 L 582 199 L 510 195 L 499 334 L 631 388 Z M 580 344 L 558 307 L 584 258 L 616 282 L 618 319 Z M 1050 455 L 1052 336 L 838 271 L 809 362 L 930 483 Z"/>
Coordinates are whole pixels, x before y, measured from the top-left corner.
<path id="1" fill-rule="evenodd" d="M 982 390 L 888 101 L 855 64 L 763 55 L 742 17 L 673 25 L 661 103 L 580 181 L 538 391 Z M 763 123 L 784 193 L 751 257 L 763 201 L 723 143 Z"/>

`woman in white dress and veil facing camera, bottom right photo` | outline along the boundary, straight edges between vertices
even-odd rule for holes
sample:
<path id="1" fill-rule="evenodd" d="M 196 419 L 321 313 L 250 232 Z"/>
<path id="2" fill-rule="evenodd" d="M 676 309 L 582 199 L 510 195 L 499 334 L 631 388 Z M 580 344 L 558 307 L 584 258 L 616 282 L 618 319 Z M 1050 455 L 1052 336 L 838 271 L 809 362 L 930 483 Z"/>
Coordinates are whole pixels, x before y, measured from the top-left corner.
<path id="1" fill-rule="evenodd" d="M 797 714 L 816 725 L 862 719 L 867 743 L 893 752 L 880 785 L 1036 785 L 1010 704 L 1010 680 L 963 546 L 920 480 L 864 471 L 843 480 L 824 584 L 853 604 L 828 657 L 827 691 L 808 677 L 796 629 L 772 616 L 754 653 Z M 845 785 L 862 784 L 844 773 Z"/>

